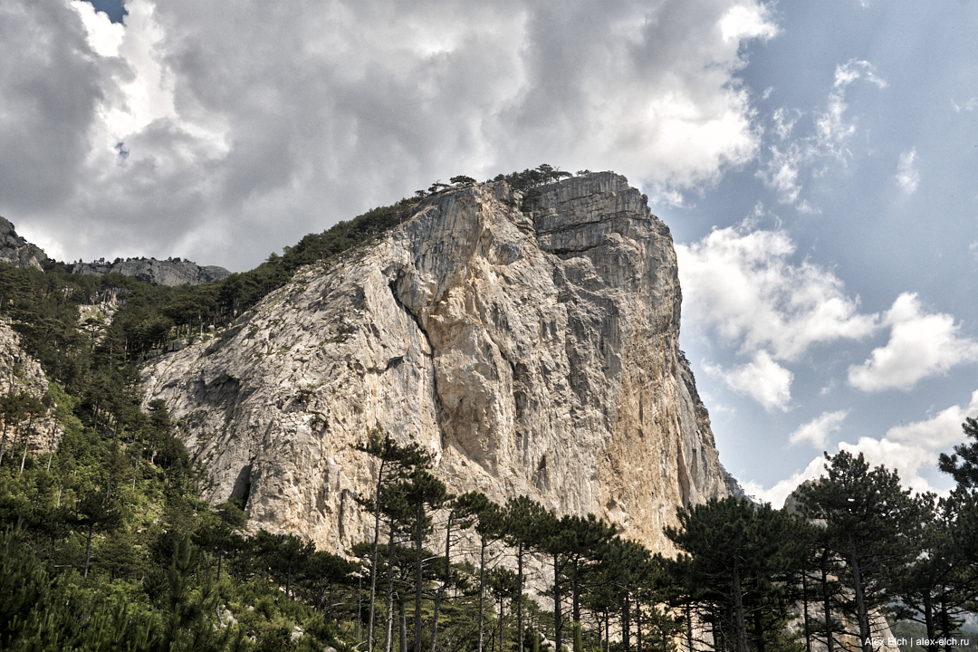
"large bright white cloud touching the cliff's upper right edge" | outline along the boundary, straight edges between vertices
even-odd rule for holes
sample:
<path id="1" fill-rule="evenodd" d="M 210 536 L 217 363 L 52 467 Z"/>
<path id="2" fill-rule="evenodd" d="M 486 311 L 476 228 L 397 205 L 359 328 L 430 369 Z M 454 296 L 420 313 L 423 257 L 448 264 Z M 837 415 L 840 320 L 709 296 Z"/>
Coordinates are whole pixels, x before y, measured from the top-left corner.
<path id="1" fill-rule="evenodd" d="M 859 299 L 847 296 L 829 270 L 792 263 L 794 250 L 784 232 L 750 231 L 746 224 L 677 244 L 684 316 L 716 328 L 741 354 L 766 350 L 780 361 L 872 332 L 877 317 L 861 315 Z"/>

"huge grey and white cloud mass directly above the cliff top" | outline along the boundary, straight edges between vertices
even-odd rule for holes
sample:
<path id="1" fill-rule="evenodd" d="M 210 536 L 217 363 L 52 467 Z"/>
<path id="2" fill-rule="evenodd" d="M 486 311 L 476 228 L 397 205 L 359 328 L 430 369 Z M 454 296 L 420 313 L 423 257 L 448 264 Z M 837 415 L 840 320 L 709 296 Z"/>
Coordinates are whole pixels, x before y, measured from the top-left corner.
<path id="1" fill-rule="evenodd" d="M 242 269 L 435 179 L 544 161 L 681 203 L 758 151 L 740 46 L 777 33 L 756 0 L 126 9 L 0 6 L 0 212 L 62 257 Z"/>

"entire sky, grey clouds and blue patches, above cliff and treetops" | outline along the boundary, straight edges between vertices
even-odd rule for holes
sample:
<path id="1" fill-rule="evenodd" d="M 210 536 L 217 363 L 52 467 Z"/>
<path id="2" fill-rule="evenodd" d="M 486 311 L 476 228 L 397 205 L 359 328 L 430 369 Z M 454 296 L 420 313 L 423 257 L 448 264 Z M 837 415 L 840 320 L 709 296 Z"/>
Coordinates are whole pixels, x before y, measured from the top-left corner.
<path id="1" fill-rule="evenodd" d="M 723 463 L 946 492 L 978 413 L 978 4 L 10 0 L 0 215 L 250 269 L 435 181 L 614 170 L 671 229 Z"/>

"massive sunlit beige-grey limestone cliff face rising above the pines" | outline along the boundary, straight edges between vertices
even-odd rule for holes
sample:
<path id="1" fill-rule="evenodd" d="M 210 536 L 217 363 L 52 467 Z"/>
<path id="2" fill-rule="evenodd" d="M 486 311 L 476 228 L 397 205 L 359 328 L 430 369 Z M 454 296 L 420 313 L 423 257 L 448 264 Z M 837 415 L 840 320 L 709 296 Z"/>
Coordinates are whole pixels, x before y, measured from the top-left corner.
<path id="1" fill-rule="evenodd" d="M 676 505 L 727 495 L 679 351 L 669 230 L 615 174 L 540 191 L 527 212 L 503 182 L 429 197 L 145 367 L 207 498 L 330 549 L 361 541 L 375 463 L 351 444 L 374 427 L 434 452 L 455 492 L 594 512 L 653 549 Z"/>

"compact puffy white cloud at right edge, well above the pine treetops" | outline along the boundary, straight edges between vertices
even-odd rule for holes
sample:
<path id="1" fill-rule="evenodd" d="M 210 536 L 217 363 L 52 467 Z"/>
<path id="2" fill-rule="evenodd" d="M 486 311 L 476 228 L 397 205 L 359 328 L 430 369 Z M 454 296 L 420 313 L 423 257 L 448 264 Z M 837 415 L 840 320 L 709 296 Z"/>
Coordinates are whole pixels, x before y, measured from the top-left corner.
<path id="1" fill-rule="evenodd" d="M 978 360 L 978 342 L 959 335 L 952 315 L 924 313 L 915 293 L 898 296 L 883 324 L 890 341 L 849 368 L 849 384 L 865 392 L 910 390 L 922 378 Z"/>

